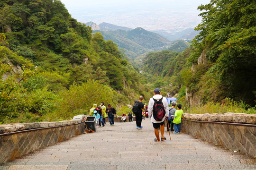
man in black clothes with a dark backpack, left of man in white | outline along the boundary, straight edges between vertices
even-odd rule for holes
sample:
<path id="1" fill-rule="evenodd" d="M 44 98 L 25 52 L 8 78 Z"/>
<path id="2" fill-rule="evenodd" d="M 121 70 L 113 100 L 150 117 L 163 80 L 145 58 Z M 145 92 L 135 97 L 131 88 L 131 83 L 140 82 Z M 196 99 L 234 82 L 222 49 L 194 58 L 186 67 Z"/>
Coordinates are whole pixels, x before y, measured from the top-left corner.
<path id="1" fill-rule="evenodd" d="M 139 96 L 139 100 L 136 101 L 132 107 L 132 112 L 136 116 L 136 128 L 141 129 L 141 121 L 142 121 L 142 110 L 146 108 L 146 104 L 144 106 L 143 102 L 143 96 Z"/>

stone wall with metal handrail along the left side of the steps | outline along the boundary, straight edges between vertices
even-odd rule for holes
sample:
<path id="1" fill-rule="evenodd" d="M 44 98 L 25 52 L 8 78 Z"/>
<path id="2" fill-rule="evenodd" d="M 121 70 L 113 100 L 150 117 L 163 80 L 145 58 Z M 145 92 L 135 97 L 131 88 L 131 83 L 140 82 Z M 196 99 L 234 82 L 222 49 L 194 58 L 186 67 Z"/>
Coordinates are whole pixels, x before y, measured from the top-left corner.
<path id="1" fill-rule="evenodd" d="M 83 133 L 82 119 L 0 125 L 0 163 Z"/>

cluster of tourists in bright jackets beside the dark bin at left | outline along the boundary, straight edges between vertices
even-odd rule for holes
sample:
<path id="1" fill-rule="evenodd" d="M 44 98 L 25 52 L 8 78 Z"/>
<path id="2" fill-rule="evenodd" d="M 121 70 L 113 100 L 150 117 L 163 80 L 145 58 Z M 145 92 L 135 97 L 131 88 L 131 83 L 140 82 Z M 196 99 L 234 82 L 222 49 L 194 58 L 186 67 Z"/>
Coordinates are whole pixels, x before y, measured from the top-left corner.
<path id="1" fill-rule="evenodd" d="M 115 108 L 111 107 L 109 104 L 108 107 L 104 106 L 104 102 L 101 102 L 101 105 L 97 107 L 97 104 L 93 104 L 90 109 L 90 115 L 96 117 L 96 127 L 102 127 L 106 124 L 107 115 L 109 117 L 110 126 L 114 125 L 114 115 L 117 115 Z"/>

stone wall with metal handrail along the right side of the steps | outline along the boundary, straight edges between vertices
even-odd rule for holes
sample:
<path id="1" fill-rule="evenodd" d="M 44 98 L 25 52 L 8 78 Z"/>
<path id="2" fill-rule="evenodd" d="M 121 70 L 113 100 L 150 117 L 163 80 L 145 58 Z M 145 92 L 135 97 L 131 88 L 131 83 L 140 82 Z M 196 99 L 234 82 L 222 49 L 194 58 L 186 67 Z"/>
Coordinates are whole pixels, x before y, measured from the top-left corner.
<path id="1" fill-rule="evenodd" d="M 184 117 L 184 133 L 256 157 L 256 115 L 184 113 Z"/>

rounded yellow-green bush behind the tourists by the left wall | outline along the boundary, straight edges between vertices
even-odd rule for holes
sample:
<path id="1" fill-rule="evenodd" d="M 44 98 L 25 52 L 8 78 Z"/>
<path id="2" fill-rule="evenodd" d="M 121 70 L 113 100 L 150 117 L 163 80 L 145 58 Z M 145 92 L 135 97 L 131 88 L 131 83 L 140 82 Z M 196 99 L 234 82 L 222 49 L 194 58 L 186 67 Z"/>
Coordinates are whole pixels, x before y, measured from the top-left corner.
<path id="1" fill-rule="evenodd" d="M 72 85 L 67 91 L 60 93 L 62 100 L 58 109 L 53 113 L 57 119 L 72 119 L 75 114 L 88 113 L 93 103 L 109 103 L 113 105 L 113 91 L 98 81 L 90 80 L 82 85 Z"/>

